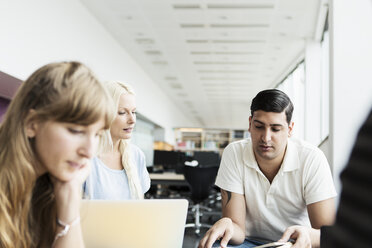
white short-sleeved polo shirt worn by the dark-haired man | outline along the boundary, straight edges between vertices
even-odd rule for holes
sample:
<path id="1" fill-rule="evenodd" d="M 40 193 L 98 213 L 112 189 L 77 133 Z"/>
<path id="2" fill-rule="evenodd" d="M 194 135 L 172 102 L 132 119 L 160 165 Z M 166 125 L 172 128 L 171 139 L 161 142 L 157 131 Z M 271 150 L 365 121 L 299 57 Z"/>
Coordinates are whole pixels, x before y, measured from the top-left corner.
<path id="1" fill-rule="evenodd" d="M 245 195 L 246 236 L 267 240 L 278 240 L 291 225 L 311 226 L 306 205 L 337 195 L 324 154 L 292 139 L 271 184 L 258 167 L 251 139 L 231 143 L 223 152 L 216 185 Z"/>

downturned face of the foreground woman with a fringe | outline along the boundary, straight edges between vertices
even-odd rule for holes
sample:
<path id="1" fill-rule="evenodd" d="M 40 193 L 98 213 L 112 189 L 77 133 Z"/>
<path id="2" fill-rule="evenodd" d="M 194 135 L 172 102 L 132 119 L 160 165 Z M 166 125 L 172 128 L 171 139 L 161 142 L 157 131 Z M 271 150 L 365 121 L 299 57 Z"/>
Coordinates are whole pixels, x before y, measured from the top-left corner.
<path id="1" fill-rule="evenodd" d="M 60 181 L 72 180 L 89 165 L 103 127 L 103 119 L 88 126 L 55 121 L 28 125 L 27 136 L 35 139 L 35 153 L 41 161 L 38 174 L 49 172 Z"/>

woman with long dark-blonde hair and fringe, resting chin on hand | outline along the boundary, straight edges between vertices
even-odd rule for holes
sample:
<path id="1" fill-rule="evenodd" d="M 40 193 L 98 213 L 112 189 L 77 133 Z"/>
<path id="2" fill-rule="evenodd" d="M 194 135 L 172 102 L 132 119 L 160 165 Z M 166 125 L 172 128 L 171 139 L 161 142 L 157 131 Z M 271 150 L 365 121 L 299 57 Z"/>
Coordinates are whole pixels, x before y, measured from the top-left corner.
<path id="1" fill-rule="evenodd" d="M 112 100 L 78 62 L 45 65 L 0 126 L 0 247 L 84 247 L 79 203 Z"/>

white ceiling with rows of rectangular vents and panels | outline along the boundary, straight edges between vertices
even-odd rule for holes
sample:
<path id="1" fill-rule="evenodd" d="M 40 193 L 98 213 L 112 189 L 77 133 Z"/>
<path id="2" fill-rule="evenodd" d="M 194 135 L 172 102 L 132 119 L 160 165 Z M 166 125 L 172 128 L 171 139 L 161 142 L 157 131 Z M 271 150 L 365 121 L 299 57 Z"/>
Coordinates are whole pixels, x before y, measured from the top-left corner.
<path id="1" fill-rule="evenodd" d="M 186 116 L 218 128 L 247 127 L 252 97 L 279 83 L 314 37 L 320 4 L 81 1 Z"/>

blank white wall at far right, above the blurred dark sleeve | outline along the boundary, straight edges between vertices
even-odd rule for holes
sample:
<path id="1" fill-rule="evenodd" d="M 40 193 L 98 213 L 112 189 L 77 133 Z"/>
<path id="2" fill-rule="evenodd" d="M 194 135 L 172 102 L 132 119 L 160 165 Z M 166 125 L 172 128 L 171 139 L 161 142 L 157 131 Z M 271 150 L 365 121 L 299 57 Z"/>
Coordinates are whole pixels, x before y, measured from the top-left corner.
<path id="1" fill-rule="evenodd" d="M 330 160 L 336 186 L 372 107 L 372 1 L 330 2 Z"/>

